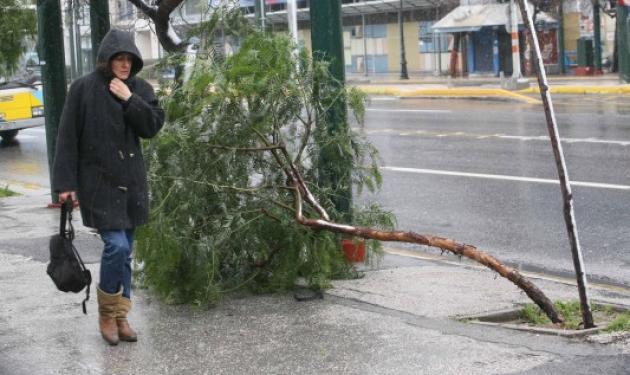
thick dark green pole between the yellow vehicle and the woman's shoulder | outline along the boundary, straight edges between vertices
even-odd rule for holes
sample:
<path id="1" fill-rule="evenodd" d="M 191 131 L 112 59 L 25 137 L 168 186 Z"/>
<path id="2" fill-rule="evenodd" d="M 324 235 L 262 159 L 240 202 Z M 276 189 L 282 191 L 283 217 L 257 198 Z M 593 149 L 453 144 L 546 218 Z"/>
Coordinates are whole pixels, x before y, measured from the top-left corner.
<path id="1" fill-rule="evenodd" d="M 66 63 L 59 0 L 37 0 L 37 45 L 44 88 L 44 126 L 52 203 L 59 197 L 52 190 L 52 165 L 57 147 L 61 110 L 66 101 Z"/>

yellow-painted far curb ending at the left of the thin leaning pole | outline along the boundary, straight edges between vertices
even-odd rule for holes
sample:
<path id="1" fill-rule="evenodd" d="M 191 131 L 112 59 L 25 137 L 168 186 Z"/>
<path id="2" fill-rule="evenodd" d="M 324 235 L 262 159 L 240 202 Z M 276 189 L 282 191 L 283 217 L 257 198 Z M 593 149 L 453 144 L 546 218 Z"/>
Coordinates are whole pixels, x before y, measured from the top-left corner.
<path id="1" fill-rule="evenodd" d="M 397 96 L 400 98 L 480 98 L 480 99 L 503 99 L 515 100 L 527 104 L 540 104 L 540 100 L 530 98 L 522 93 L 516 93 L 503 89 L 493 88 L 429 88 L 416 90 L 401 90 L 392 87 L 357 86 L 357 88 L 368 95 Z"/>

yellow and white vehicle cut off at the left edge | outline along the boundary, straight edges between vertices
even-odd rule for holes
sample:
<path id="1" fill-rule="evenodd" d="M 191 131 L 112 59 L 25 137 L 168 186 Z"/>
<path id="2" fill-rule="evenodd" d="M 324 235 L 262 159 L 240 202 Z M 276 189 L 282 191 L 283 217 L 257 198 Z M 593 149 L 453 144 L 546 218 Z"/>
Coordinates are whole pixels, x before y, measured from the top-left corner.
<path id="1" fill-rule="evenodd" d="M 44 98 L 41 85 L 0 86 L 0 137 L 10 141 L 21 129 L 44 125 Z"/>

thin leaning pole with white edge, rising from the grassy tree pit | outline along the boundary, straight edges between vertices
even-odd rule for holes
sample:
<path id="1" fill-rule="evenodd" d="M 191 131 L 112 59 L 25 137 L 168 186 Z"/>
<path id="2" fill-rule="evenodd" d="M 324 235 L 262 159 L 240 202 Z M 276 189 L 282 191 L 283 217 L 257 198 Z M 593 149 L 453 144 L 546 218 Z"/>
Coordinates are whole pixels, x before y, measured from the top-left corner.
<path id="1" fill-rule="evenodd" d="M 593 315 L 591 313 L 591 307 L 587 295 L 588 286 L 586 282 L 586 271 L 584 268 L 584 260 L 582 259 L 582 251 L 580 250 L 580 241 L 578 239 L 577 225 L 575 222 L 575 212 L 573 210 L 573 194 L 571 192 L 569 174 L 567 172 L 567 167 L 564 160 L 562 144 L 560 143 L 560 135 L 558 134 L 558 125 L 556 123 L 556 115 L 553 109 L 553 102 L 551 101 L 551 94 L 549 93 L 549 85 L 547 83 L 545 65 L 543 63 L 542 54 L 540 52 L 538 36 L 536 35 L 536 29 L 534 28 L 534 21 L 532 19 L 531 12 L 526 6 L 525 0 L 518 0 L 518 2 L 521 7 L 523 21 L 526 20 L 525 24 L 529 29 L 530 43 L 534 47 L 534 51 L 536 53 L 538 85 L 540 87 L 540 96 L 542 97 L 543 105 L 545 107 L 547 130 L 549 132 L 549 137 L 551 138 L 553 154 L 556 159 L 556 167 L 558 169 L 558 178 L 560 180 L 560 190 L 562 191 L 562 197 L 564 200 L 564 220 L 567 227 L 567 233 L 569 235 L 571 253 L 573 255 L 573 266 L 575 267 L 578 293 L 580 295 L 580 305 L 582 309 L 584 328 L 592 328 L 595 326 L 595 324 L 593 323 Z"/>

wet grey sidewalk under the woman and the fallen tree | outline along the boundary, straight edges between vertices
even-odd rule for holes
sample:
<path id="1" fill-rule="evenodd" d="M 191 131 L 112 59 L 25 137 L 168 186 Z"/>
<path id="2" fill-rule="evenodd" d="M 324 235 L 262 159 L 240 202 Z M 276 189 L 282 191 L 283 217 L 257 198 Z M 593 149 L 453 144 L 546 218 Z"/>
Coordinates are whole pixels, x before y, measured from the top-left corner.
<path id="1" fill-rule="evenodd" d="M 527 297 L 457 258 L 390 249 L 365 277 L 323 299 L 229 297 L 210 310 L 165 305 L 134 290 L 138 343 L 107 346 L 95 298 L 58 292 L 46 275 L 55 210 L 46 191 L 0 199 L 0 374 L 627 374 L 630 338 L 563 338 L 460 322 Z M 78 218 L 77 218 L 78 221 Z M 77 225 L 98 278 L 100 240 Z M 565 280 L 533 275 L 552 298 Z M 92 287 L 94 292 L 94 286 Z M 593 286 L 592 299 L 630 306 L 630 291 Z"/>

